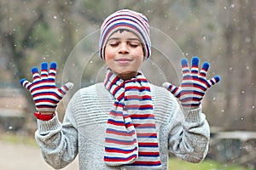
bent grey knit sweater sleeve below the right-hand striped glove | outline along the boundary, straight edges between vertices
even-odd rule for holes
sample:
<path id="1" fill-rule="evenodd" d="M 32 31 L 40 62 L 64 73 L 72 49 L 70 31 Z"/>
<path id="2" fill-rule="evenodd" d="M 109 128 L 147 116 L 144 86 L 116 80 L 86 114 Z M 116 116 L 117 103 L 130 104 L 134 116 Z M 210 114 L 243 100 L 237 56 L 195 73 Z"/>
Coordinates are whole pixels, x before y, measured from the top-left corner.
<path id="1" fill-rule="evenodd" d="M 210 127 L 201 108 L 182 111 L 173 99 L 169 119 L 169 150 L 184 161 L 198 163 L 207 155 Z"/>

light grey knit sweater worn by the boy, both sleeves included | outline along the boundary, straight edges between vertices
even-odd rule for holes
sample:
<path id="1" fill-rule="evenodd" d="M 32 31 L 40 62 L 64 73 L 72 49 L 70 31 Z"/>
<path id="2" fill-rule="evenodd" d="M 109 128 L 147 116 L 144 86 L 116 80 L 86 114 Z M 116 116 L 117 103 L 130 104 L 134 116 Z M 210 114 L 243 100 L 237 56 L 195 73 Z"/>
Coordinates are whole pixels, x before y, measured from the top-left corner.
<path id="1" fill-rule="evenodd" d="M 202 161 L 210 130 L 201 108 L 185 113 L 166 88 L 151 85 L 151 92 L 162 169 L 168 168 L 168 151 L 185 161 Z M 80 170 L 123 169 L 108 167 L 103 161 L 105 127 L 113 102 L 103 83 L 97 83 L 73 95 L 62 123 L 57 116 L 46 122 L 38 120 L 35 138 L 44 160 L 59 169 L 79 154 Z"/>

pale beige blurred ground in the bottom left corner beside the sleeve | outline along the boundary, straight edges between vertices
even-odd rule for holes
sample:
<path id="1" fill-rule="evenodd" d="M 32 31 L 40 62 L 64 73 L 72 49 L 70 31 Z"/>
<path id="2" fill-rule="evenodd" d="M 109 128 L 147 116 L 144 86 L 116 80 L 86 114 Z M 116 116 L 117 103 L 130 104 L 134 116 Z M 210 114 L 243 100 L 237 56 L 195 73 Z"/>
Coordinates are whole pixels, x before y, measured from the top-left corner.
<path id="1" fill-rule="evenodd" d="M 12 144 L 0 140 L 1 170 L 52 170 L 54 168 L 43 160 L 37 146 Z M 78 158 L 63 170 L 79 169 Z"/>

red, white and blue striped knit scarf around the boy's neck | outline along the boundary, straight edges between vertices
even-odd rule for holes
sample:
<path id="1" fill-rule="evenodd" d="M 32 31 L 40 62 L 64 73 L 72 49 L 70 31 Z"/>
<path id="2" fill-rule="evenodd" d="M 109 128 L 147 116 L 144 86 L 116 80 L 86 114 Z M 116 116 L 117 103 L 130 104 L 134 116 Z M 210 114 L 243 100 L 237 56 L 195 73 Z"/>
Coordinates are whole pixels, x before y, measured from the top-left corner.
<path id="1" fill-rule="evenodd" d="M 104 161 L 109 166 L 160 169 L 160 152 L 147 79 L 123 81 L 110 69 L 104 81 L 115 101 L 108 116 Z"/>

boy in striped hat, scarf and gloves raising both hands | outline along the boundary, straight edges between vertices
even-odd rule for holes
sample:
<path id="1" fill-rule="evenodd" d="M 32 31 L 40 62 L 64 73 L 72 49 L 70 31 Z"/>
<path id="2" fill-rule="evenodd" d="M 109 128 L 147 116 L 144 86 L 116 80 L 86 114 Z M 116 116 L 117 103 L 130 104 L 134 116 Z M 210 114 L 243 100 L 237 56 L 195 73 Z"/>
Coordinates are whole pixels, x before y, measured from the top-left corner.
<path id="1" fill-rule="evenodd" d="M 154 86 L 139 71 L 150 48 L 143 14 L 123 9 L 108 16 L 99 53 L 108 65 L 105 81 L 74 94 L 62 124 L 55 109 L 73 84 L 55 87 L 55 62 L 49 71 L 43 63 L 41 76 L 33 68 L 33 82 L 20 81 L 35 101 L 35 138 L 49 165 L 65 167 L 77 154 L 79 169 L 167 169 L 168 151 L 190 162 L 205 158 L 210 130 L 201 99 L 219 77 L 207 80 L 209 64 L 199 72 L 195 57 L 191 71 L 182 60 L 180 87 Z"/>

